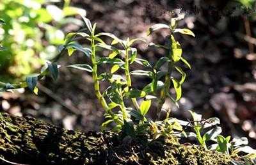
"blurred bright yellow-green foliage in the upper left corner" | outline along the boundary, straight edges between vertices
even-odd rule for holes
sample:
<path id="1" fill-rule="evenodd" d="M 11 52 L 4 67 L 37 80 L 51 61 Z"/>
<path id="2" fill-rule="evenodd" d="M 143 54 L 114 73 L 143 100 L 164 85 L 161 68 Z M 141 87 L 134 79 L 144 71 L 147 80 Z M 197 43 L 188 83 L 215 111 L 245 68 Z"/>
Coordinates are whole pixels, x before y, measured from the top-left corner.
<path id="1" fill-rule="evenodd" d="M 63 6 L 62 8 L 56 6 Z M 0 3 L 0 80 L 22 78 L 40 68 L 57 54 L 56 45 L 64 42 L 61 30 L 68 23 L 83 25 L 71 15 L 85 10 L 70 6 L 70 0 L 4 0 Z"/>

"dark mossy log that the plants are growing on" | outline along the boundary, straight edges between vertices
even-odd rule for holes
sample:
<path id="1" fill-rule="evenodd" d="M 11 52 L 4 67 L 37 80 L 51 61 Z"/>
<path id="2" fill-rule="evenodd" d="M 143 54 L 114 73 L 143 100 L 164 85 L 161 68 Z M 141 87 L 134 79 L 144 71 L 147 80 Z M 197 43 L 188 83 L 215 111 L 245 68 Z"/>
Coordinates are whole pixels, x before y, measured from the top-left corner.
<path id="1" fill-rule="evenodd" d="M 75 132 L 35 118 L 0 113 L 0 164 L 230 164 L 231 157 L 177 138 L 119 138 Z"/>

